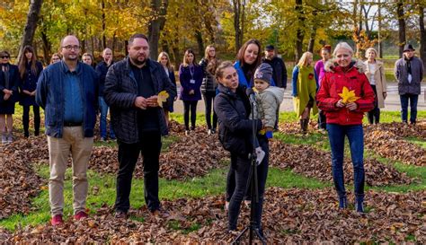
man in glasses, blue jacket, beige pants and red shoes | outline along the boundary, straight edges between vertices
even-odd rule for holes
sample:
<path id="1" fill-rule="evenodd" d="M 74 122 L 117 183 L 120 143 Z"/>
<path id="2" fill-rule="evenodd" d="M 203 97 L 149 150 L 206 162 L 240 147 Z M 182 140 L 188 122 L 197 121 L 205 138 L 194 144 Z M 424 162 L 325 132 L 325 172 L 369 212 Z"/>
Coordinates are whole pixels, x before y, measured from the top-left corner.
<path id="1" fill-rule="evenodd" d="M 73 159 L 74 218 L 85 213 L 87 163 L 93 147 L 93 128 L 98 107 L 98 79 L 91 66 L 78 61 L 80 44 L 75 36 L 60 42 L 61 62 L 40 74 L 36 101 L 45 113 L 49 146 L 49 202 L 52 225 L 63 223 L 64 179 L 67 159 Z"/>

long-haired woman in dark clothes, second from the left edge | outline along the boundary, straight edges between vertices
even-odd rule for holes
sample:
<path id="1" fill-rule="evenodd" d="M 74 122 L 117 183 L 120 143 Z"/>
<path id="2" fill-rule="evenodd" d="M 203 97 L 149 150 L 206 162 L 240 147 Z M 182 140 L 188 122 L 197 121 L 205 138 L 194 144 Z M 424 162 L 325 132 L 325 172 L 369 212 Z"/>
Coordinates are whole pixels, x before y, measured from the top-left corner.
<path id="1" fill-rule="evenodd" d="M 21 76 L 21 100 L 19 102 L 22 105 L 22 124 L 23 124 L 23 136 L 30 136 L 30 107 L 34 112 L 34 135 L 39 136 L 40 134 L 40 107 L 35 102 L 35 94 L 37 88 L 37 81 L 39 75 L 43 70 L 43 65 L 37 60 L 34 49 L 31 46 L 25 46 L 23 48 L 23 55 L 19 60 L 19 74 Z"/>

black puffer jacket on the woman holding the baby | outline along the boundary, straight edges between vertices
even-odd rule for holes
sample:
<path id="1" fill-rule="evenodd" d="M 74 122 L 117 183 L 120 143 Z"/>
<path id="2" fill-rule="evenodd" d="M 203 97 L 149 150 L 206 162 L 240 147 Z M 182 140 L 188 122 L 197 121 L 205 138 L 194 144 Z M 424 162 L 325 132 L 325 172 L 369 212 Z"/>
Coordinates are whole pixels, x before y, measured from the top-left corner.
<path id="1" fill-rule="evenodd" d="M 244 87 L 239 86 L 231 92 L 222 84 L 215 99 L 214 109 L 219 122 L 219 140 L 226 151 L 247 157 L 253 149 L 252 123 L 249 119 L 250 101 L 245 95 Z M 257 130 L 262 129 L 262 121 L 257 119 Z"/>

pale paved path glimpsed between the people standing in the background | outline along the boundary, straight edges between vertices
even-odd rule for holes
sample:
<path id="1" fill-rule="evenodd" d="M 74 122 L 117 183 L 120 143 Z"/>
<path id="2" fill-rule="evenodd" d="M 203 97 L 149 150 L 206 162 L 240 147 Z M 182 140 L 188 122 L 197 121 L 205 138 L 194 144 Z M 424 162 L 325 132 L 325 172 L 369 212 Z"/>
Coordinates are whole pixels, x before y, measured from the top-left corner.
<path id="1" fill-rule="evenodd" d="M 179 91 L 179 85 L 178 85 Z M 417 104 L 418 110 L 426 110 L 426 84 L 422 85 L 422 94 L 419 96 Z M 204 113 L 204 101 L 201 100 L 197 104 L 197 111 Z M 381 110 L 386 111 L 399 111 L 401 110 L 401 102 L 399 101 L 398 86 L 396 83 L 389 83 L 387 85 L 387 98 L 385 100 L 385 108 Z M 288 83 L 287 90 L 284 92 L 284 101 L 280 106 L 280 111 L 293 111 L 293 97 L 291 97 L 291 83 Z M 174 113 L 183 113 L 182 101 L 174 102 Z"/>

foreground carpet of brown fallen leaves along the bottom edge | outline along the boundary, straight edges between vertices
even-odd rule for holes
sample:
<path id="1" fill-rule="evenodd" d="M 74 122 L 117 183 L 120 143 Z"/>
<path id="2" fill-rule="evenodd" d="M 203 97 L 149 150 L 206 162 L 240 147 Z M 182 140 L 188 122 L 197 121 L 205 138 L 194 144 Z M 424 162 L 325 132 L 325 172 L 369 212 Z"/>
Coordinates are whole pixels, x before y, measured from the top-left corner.
<path id="1" fill-rule="evenodd" d="M 332 188 L 324 190 L 269 188 L 265 194 L 262 226 L 268 243 L 337 244 L 365 242 L 403 243 L 412 237 L 426 242 L 424 226 L 426 191 L 405 194 L 368 191 L 364 215 L 349 209 L 339 211 Z M 349 194 L 349 202 L 353 203 Z M 146 207 L 132 211 L 144 222 L 114 219 L 104 206 L 88 219 L 53 228 L 49 223 L 26 227 L 14 233 L 0 230 L 5 242 L 20 243 L 229 243 L 235 234 L 227 233 L 223 197 L 164 201 L 168 215 L 151 217 Z M 249 209 L 242 208 L 239 230 L 249 223 Z M 247 233 L 243 241 L 248 240 Z"/>

